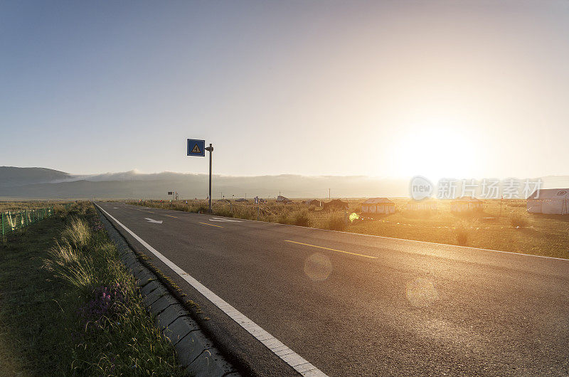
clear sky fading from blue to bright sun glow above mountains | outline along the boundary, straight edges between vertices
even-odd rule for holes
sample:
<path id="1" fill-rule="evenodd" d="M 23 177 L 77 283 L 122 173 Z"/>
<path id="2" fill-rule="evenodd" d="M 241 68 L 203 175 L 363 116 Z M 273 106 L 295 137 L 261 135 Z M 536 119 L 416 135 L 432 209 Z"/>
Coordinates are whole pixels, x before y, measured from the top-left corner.
<path id="1" fill-rule="evenodd" d="M 2 1 L 0 165 L 569 174 L 569 1 Z"/>

